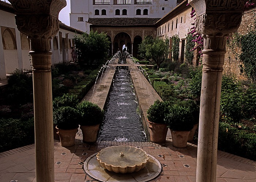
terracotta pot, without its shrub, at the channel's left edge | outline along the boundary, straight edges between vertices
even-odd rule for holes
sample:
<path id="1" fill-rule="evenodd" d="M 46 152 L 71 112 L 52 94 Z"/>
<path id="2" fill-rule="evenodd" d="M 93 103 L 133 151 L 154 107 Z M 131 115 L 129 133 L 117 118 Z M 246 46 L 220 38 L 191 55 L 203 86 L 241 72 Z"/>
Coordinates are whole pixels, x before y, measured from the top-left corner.
<path id="1" fill-rule="evenodd" d="M 93 143 L 97 141 L 99 124 L 94 126 L 80 126 L 83 134 L 83 142 Z"/>

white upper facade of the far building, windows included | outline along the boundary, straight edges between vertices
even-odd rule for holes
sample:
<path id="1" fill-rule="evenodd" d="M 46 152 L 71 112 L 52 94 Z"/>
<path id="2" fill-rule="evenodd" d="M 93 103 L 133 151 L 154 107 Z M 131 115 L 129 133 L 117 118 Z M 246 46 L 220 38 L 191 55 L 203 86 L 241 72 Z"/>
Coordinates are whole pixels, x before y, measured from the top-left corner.
<path id="1" fill-rule="evenodd" d="M 90 32 L 89 18 L 162 18 L 176 0 L 70 0 L 70 26 Z"/>

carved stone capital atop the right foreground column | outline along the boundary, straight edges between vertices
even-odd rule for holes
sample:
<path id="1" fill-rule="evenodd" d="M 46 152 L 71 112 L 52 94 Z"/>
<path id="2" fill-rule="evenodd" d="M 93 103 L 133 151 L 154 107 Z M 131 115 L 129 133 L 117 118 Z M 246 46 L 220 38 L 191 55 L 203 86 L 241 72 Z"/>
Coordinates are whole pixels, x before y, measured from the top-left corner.
<path id="1" fill-rule="evenodd" d="M 204 50 L 225 50 L 226 38 L 236 31 L 247 0 L 189 0 L 196 10 L 196 31 L 202 34 Z"/>

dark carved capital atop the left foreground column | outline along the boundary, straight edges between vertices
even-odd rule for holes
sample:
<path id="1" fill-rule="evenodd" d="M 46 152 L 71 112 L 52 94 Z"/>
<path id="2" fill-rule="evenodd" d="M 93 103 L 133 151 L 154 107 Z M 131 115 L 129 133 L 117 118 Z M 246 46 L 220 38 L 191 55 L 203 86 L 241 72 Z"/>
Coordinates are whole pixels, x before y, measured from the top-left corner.
<path id="1" fill-rule="evenodd" d="M 31 40 L 31 50 L 48 52 L 49 40 L 59 30 L 59 12 L 65 0 L 10 0 L 16 25 Z"/>

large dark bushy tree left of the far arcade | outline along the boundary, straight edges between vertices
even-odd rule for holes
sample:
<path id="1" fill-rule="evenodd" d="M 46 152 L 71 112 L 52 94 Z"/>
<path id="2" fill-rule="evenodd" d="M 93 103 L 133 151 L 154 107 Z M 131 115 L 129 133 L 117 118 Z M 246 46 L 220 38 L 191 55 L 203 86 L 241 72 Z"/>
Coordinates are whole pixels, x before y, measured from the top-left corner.
<path id="1" fill-rule="evenodd" d="M 75 35 L 73 41 L 79 50 L 80 59 L 89 64 L 95 60 L 105 58 L 110 51 L 110 42 L 107 35 L 105 33 L 98 33 L 98 31 Z"/>

